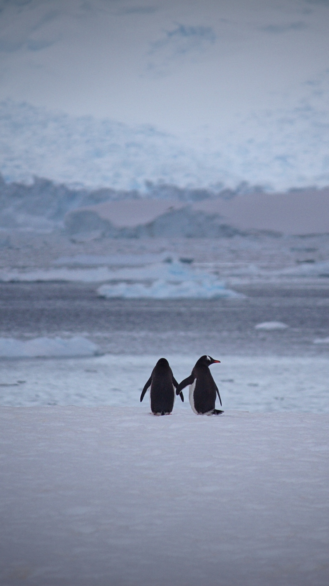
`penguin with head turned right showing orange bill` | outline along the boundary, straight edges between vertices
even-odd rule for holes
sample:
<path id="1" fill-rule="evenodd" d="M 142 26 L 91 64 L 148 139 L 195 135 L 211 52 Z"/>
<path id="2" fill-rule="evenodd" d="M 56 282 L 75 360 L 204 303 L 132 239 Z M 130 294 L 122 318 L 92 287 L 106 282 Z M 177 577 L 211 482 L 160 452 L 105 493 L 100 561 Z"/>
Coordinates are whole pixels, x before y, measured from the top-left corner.
<path id="1" fill-rule="evenodd" d="M 190 385 L 189 400 L 192 410 L 197 415 L 219 415 L 224 413 L 215 409 L 216 393 L 222 405 L 220 391 L 217 389 L 211 372 L 209 370 L 210 364 L 221 362 L 214 360 L 211 356 L 201 356 L 192 370 L 192 374 L 179 383 L 176 389 L 178 395 L 184 387 Z"/>

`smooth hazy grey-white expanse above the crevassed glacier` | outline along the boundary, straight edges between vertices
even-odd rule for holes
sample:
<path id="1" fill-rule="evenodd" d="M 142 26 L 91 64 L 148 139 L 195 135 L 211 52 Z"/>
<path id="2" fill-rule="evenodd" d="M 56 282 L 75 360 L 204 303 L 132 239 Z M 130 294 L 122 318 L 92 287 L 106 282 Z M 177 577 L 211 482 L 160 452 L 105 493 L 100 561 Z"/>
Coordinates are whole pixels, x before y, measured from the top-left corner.
<path id="1" fill-rule="evenodd" d="M 0 99 L 175 134 L 289 106 L 329 69 L 329 0 L 0 0 Z"/>

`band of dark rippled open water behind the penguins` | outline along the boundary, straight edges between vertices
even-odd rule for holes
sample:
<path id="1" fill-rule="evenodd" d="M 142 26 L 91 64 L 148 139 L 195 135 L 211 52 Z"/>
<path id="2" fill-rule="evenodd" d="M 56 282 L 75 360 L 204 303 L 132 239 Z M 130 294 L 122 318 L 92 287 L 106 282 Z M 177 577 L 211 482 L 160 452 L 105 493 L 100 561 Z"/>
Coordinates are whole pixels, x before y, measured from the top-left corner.
<path id="1" fill-rule="evenodd" d="M 97 285 L 1 283 L 0 336 L 82 334 L 103 352 L 328 356 L 329 288 L 235 288 L 246 297 L 216 300 L 104 299 Z M 280 321 L 289 328 L 263 332 Z"/>

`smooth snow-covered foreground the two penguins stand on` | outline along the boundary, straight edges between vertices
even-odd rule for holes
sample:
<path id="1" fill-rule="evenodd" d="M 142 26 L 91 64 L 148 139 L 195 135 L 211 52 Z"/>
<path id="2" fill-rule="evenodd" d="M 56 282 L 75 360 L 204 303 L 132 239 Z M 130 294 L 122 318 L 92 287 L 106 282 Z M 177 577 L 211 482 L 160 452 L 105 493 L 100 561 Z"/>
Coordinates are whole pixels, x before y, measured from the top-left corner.
<path id="1" fill-rule="evenodd" d="M 2 584 L 328 584 L 329 415 L 0 417 Z"/>

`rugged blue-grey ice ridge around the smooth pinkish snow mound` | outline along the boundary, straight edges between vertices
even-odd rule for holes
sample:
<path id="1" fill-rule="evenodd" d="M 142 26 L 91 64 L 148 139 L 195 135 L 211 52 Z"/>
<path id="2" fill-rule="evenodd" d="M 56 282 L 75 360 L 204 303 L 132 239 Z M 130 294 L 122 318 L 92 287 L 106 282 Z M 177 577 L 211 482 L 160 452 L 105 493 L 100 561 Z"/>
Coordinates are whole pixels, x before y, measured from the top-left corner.
<path id="1" fill-rule="evenodd" d="M 0 128 L 1 130 L 1 128 Z M 1 136 L 0 136 L 1 141 Z M 249 192 L 247 185 L 235 190 L 180 189 L 177 185 L 149 185 L 148 191 L 124 191 L 102 188 L 85 189 L 56 183 L 50 179 L 35 177 L 29 185 L 6 183 L 0 174 L 0 228 L 52 230 L 63 228 L 71 236 L 95 233 L 95 236 L 111 238 L 140 238 L 162 236 L 164 233 L 180 236 L 217 237 L 232 236 L 234 230 L 222 226 L 216 214 L 196 213 L 190 207 L 159 212 L 153 222 L 138 222 L 134 227 L 114 226 L 100 217 L 93 206 L 114 200 L 175 200 L 196 202 L 214 197 L 233 197 Z M 91 209 L 90 209 L 91 208 Z M 65 218 L 65 220 L 64 220 Z M 235 230 L 236 232 L 237 230 Z"/>

